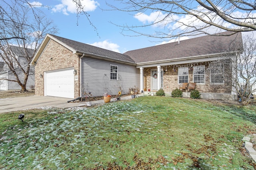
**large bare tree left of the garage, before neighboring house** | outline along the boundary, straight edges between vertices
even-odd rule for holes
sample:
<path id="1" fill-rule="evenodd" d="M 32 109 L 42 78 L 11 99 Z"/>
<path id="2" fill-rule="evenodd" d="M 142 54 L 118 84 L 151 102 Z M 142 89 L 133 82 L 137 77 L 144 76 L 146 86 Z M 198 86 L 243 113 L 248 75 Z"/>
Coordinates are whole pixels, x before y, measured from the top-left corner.
<path id="1" fill-rule="evenodd" d="M 6 13 L 1 13 L 3 10 Z M 2 4 L 0 16 L 3 16 L 0 20 L 0 59 L 4 61 L 5 71 L 14 77 L 2 80 L 17 82 L 21 91 L 26 91 L 28 76 L 33 71 L 30 68 L 32 57 L 45 35 L 56 33 L 58 29 L 43 13 L 16 0 L 13 4 Z"/>

